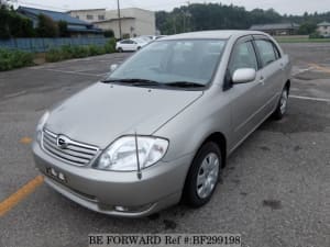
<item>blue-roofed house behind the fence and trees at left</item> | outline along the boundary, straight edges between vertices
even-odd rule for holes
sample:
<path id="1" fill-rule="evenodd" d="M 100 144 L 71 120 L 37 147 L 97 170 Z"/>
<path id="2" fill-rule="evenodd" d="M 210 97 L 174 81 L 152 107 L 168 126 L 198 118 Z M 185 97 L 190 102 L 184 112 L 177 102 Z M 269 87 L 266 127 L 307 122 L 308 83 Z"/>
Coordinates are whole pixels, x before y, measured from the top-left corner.
<path id="1" fill-rule="evenodd" d="M 33 26 L 37 27 L 38 15 L 44 14 L 51 18 L 54 22 L 65 21 L 67 23 L 67 30 L 70 36 L 103 36 L 103 32 L 100 29 L 95 27 L 91 23 L 73 18 L 64 12 L 56 12 L 51 10 L 34 9 L 28 7 L 19 7 L 16 10 L 19 13 L 31 19 Z"/>

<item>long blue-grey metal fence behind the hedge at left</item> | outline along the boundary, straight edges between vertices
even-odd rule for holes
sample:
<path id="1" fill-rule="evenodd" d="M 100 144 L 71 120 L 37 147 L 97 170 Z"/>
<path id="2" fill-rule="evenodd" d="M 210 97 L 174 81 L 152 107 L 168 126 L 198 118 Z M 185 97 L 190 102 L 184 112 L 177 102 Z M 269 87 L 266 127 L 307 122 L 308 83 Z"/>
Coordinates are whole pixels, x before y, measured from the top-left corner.
<path id="1" fill-rule="evenodd" d="M 55 38 L 10 38 L 0 40 L 0 48 L 21 49 L 25 52 L 44 53 L 64 45 L 105 45 L 106 37 L 55 37 Z"/>

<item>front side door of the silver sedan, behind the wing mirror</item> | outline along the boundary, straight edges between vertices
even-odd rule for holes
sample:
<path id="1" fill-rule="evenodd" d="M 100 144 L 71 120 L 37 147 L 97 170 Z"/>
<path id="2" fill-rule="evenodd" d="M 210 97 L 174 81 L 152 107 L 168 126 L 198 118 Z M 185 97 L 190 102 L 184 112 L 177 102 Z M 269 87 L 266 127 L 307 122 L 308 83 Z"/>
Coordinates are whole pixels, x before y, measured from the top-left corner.
<path id="1" fill-rule="evenodd" d="M 228 90 L 231 96 L 233 146 L 239 145 L 263 121 L 261 108 L 265 101 L 265 96 L 262 93 L 264 85 L 252 36 L 240 38 L 235 43 L 226 80 L 231 80 L 234 71 L 241 68 L 255 69 L 256 77 L 251 82 L 232 83 Z"/>

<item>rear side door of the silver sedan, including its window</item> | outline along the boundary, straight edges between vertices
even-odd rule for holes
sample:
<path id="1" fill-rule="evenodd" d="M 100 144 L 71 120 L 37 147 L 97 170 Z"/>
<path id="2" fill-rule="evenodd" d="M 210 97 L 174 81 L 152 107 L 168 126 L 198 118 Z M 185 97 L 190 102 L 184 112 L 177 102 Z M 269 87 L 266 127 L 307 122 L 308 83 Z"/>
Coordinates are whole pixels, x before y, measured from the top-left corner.
<path id="1" fill-rule="evenodd" d="M 266 36 L 254 36 L 254 44 L 262 66 L 260 72 L 264 80 L 262 93 L 266 97 L 263 114 L 271 114 L 278 103 L 278 97 L 285 81 L 284 61 L 280 52 Z"/>

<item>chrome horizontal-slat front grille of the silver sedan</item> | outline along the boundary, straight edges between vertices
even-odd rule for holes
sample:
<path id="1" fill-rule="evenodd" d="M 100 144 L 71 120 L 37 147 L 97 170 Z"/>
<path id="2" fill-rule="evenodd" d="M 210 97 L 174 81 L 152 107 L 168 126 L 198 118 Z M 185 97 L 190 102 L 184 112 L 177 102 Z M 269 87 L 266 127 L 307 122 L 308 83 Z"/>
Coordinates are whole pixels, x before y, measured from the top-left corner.
<path id="1" fill-rule="evenodd" d="M 75 166 L 87 166 L 98 154 L 99 148 L 69 139 L 67 146 L 57 145 L 58 135 L 44 130 L 42 146 L 50 155 Z"/>

